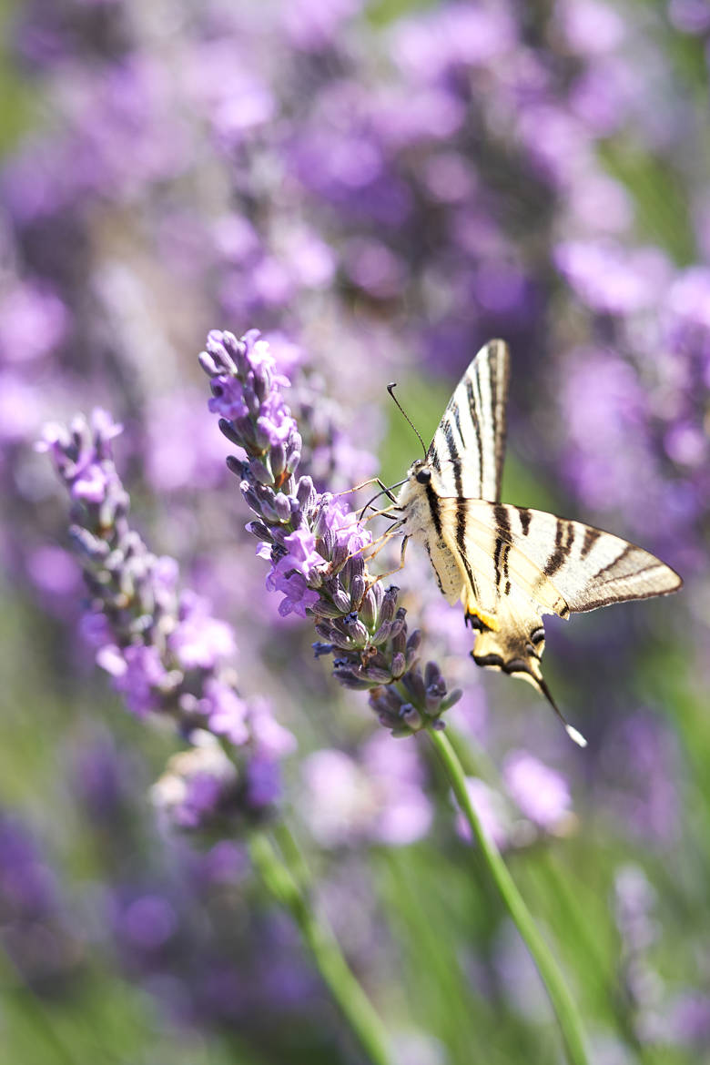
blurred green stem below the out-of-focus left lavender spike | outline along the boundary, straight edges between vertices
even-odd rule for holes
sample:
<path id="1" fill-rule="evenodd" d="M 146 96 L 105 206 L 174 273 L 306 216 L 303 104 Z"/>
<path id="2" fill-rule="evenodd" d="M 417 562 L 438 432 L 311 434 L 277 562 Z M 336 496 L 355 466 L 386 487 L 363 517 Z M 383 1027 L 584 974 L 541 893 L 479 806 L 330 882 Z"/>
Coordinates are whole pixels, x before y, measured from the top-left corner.
<path id="1" fill-rule="evenodd" d="M 271 840 L 253 833 L 251 861 L 266 888 L 296 921 L 320 976 L 373 1065 L 390 1065 L 387 1035 L 369 999 L 348 968 L 332 929 L 310 905 Z"/>

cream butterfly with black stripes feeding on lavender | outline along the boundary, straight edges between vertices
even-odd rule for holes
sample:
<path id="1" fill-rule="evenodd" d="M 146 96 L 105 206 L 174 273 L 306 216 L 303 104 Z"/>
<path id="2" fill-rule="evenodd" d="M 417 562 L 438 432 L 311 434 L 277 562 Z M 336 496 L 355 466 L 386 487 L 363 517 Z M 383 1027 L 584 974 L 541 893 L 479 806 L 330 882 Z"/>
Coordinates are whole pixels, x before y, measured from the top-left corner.
<path id="1" fill-rule="evenodd" d="M 584 747 L 542 674 L 543 616 L 566 619 L 611 603 L 666 595 L 682 580 L 611 532 L 500 502 L 509 380 L 508 345 L 492 340 L 461 378 L 393 509 L 400 515 L 402 551 L 410 538 L 424 544 L 441 592 L 450 604 L 462 601 L 476 633 L 470 652 L 476 665 L 532 684 L 571 738 Z"/>

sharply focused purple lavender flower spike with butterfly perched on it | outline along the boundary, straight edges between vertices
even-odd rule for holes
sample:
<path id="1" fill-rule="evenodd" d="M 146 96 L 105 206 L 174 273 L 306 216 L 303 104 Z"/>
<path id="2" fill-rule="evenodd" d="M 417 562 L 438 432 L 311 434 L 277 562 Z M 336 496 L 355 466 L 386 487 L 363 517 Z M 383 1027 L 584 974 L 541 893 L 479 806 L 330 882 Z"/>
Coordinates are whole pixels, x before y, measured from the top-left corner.
<path id="1" fill-rule="evenodd" d="M 266 587 L 283 595 L 279 610 L 312 617 L 316 656 L 332 654 L 346 688 L 369 692 L 381 724 L 395 736 L 443 727 L 441 715 L 461 697 L 448 692 L 434 662 L 419 668 L 422 634 L 408 632 L 399 589 L 386 591 L 367 572 L 362 548 L 369 532 L 308 475 L 296 476 L 302 441 L 266 341 L 252 329 L 237 340 L 213 330 L 200 364 L 211 379 L 210 409 L 246 456 L 229 456 L 242 494 L 255 515 L 247 528 L 271 563 Z"/>

